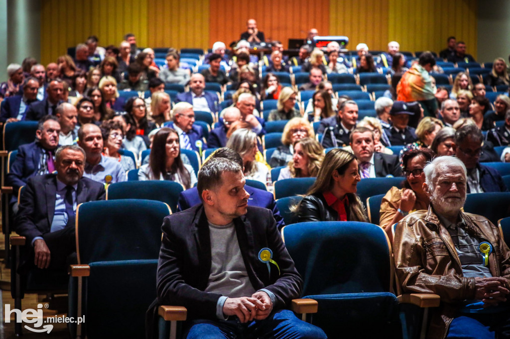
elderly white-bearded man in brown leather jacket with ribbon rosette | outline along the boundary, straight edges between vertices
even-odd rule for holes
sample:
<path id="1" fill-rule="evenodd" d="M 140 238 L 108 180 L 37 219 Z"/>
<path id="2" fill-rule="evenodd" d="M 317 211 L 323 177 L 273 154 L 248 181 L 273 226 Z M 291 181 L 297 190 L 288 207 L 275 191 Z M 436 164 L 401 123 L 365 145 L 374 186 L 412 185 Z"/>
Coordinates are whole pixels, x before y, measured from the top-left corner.
<path id="1" fill-rule="evenodd" d="M 403 218 L 394 253 L 403 293 L 435 293 L 428 338 L 510 337 L 510 251 L 487 218 L 465 213 L 466 167 L 451 156 L 425 166 L 427 211 Z"/>

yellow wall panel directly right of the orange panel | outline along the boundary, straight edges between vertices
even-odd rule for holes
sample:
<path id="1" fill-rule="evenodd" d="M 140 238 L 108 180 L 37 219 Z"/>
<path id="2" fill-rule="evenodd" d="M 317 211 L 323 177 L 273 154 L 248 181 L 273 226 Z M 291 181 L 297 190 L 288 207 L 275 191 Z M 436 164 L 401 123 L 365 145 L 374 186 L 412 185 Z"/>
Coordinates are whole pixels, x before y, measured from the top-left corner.
<path id="1" fill-rule="evenodd" d="M 385 50 L 388 12 L 388 0 L 330 0 L 329 33 L 347 36 L 350 50 L 362 42 L 371 50 Z"/>

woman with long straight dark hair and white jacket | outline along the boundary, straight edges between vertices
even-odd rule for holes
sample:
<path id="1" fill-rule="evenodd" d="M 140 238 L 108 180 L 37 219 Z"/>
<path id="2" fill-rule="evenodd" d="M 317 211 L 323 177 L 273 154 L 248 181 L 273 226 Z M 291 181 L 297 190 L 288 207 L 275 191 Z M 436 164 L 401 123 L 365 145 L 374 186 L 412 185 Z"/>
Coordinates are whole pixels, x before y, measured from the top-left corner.
<path id="1" fill-rule="evenodd" d="M 160 129 L 152 140 L 149 163 L 138 171 L 138 180 L 171 180 L 188 189 L 195 185 L 193 167 L 181 159 L 179 134 L 173 128 Z"/>

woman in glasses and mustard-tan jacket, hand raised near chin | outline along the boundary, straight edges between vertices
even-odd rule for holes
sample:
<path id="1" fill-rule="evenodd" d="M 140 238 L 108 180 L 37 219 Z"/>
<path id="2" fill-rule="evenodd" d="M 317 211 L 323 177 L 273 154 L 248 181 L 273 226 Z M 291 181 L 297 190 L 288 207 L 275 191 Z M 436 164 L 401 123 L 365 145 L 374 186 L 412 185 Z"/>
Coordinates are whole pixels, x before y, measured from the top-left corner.
<path id="1" fill-rule="evenodd" d="M 390 241 L 391 227 L 399 222 L 404 216 L 417 210 L 426 210 L 430 201 L 423 191 L 425 174 L 423 167 L 431 161 L 436 154 L 428 149 L 411 150 L 402 157 L 404 176 L 404 188 L 392 187 L 382 198 L 379 225 L 386 230 Z"/>

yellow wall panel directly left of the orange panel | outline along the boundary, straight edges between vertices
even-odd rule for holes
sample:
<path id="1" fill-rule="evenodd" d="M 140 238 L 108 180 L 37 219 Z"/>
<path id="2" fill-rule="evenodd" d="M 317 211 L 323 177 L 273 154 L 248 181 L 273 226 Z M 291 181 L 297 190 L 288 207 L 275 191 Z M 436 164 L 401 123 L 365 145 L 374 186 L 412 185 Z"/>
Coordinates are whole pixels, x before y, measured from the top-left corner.
<path id="1" fill-rule="evenodd" d="M 207 48 L 209 1 L 148 1 L 148 45 Z"/>

